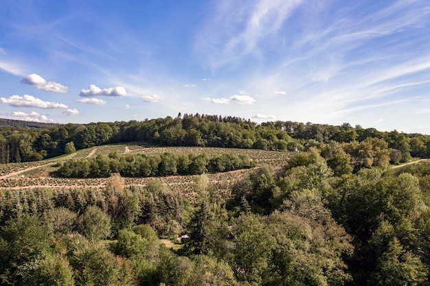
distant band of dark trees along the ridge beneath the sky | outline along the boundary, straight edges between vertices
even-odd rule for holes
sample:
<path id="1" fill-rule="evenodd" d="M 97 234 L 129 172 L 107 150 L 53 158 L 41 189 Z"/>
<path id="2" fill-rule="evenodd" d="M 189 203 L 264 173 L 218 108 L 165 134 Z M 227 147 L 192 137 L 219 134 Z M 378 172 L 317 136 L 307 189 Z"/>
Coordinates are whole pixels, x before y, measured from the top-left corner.
<path id="1" fill-rule="evenodd" d="M 208 146 L 261 150 L 304 150 L 315 143 L 361 143 L 381 139 L 394 152 L 394 160 L 430 156 L 430 136 L 397 131 L 380 132 L 344 123 L 330 126 L 293 121 L 260 125 L 238 117 L 178 115 L 176 118 L 117 121 L 110 123 L 63 124 L 41 128 L 0 126 L 0 163 L 41 160 L 65 154 L 73 148 L 107 143 L 140 141 L 163 146 Z M 72 148 L 72 149 L 73 149 Z"/>

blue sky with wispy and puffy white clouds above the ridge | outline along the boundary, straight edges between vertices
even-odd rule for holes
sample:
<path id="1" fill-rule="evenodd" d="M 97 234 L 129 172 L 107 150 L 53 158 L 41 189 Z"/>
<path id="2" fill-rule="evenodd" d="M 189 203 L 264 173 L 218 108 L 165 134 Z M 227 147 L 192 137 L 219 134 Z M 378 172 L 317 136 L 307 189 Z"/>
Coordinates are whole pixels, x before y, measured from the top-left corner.
<path id="1" fill-rule="evenodd" d="M 428 0 L 0 1 L 0 117 L 430 134 Z"/>

